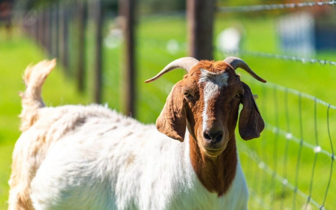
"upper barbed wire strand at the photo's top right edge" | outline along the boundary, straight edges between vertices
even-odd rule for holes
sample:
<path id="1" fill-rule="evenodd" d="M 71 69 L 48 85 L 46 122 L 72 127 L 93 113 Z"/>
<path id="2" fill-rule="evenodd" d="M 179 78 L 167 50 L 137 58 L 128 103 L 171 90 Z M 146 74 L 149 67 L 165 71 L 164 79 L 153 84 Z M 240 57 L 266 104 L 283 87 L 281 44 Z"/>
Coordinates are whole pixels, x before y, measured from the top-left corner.
<path id="1" fill-rule="evenodd" d="M 302 7 L 314 7 L 314 6 L 325 6 L 336 5 L 336 1 L 320 1 L 320 2 L 300 2 L 300 3 L 286 3 L 286 4 L 261 4 L 261 5 L 249 5 L 249 6 L 227 6 L 219 7 L 218 12 L 230 13 L 230 12 L 256 12 L 256 11 L 269 11 L 278 9 L 289 9 L 289 8 L 302 8 Z"/>

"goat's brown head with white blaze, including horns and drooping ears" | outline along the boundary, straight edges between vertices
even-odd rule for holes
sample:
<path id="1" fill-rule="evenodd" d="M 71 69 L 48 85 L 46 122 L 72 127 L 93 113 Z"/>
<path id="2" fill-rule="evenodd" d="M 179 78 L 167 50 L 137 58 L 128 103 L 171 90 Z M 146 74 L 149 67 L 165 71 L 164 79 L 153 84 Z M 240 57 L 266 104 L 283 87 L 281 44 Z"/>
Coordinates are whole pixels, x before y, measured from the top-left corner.
<path id="1" fill-rule="evenodd" d="M 183 141 L 185 128 L 197 139 L 201 151 L 208 156 L 217 156 L 232 138 L 239 104 L 243 109 L 239 117 L 239 133 L 244 140 L 257 138 L 264 122 L 256 107 L 248 85 L 235 73 L 242 68 L 261 82 L 248 65 L 236 57 L 224 61 L 198 61 L 183 57 L 168 64 L 151 82 L 163 74 L 183 68 L 188 74 L 172 88 L 166 104 L 156 121 L 156 127 L 167 136 Z"/>

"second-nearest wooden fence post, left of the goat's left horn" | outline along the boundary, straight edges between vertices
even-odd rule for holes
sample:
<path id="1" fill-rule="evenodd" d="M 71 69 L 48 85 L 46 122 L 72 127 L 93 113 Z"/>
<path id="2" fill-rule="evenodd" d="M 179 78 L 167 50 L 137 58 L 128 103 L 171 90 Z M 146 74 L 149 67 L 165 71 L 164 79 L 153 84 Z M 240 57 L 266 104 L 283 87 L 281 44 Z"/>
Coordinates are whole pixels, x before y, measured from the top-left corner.
<path id="1" fill-rule="evenodd" d="M 119 15 L 123 16 L 123 30 L 126 42 L 125 50 L 125 71 L 124 71 L 124 84 L 125 92 L 124 110 L 126 115 L 135 116 L 135 52 L 134 52 L 134 22 L 135 22 L 135 2 L 136 0 L 119 0 Z"/>

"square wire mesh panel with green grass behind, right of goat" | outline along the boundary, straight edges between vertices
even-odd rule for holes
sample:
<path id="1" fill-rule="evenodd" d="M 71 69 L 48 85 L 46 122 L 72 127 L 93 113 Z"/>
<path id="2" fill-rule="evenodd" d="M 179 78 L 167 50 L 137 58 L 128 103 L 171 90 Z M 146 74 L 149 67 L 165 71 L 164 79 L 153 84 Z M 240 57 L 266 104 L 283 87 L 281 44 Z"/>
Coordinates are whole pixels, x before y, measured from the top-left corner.
<path id="1" fill-rule="evenodd" d="M 245 168 L 245 174 L 248 174 L 247 176 L 252 174 L 253 176 L 253 179 L 247 177 L 247 180 L 249 180 L 251 198 L 263 209 L 312 209 L 313 207 L 316 209 L 333 209 L 333 205 L 335 205 L 333 197 L 328 197 L 328 201 L 330 202 L 328 207 L 326 207 L 325 204 L 332 181 L 334 164 L 330 111 L 336 110 L 336 107 L 314 96 L 300 93 L 274 83 L 268 82 L 261 84 L 253 80 L 249 81 L 249 84 L 251 83 L 254 88 L 256 88 L 256 86 L 261 88 L 258 93 L 259 98 L 262 98 L 262 101 L 259 101 L 261 102 L 260 111 L 265 120 L 265 131 L 261 136 L 260 147 L 256 145 L 246 145 L 246 142 L 241 141 L 238 145 L 240 153 L 246 156 L 244 158 L 248 159 L 246 161 L 248 167 Z M 279 98 L 280 93 L 283 98 Z M 269 94 L 271 94 L 271 96 Z M 290 112 L 290 108 L 294 109 L 294 107 L 291 107 L 289 104 L 289 95 L 291 95 L 292 102 L 296 97 L 297 108 L 295 109 L 297 110 L 296 114 L 298 118 L 297 126 L 291 123 L 294 117 L 292 114 L 295 112 Z M 303 99 L 305 99 L 304 106 L 302 104 Z M 305 117 L 305 122 L 303 122 L 302 115 L 303 113 L 307 114 L 309 110 L 307 107 L 311 108 L 309 104 L 312 104 L 312 114 Z M 318 110 L 319 104 L 321 105 L 320 110 Z M 279 122 L 279 106 L 282 106 L 284 112 L 282 123 Z M 271 113 L 273 115 L 272 120 L 274 121 L 274 125 L 268 121 L 269 112 L 267 109 L 272 109 Z M 327 129 L 321 129 L 324 125 L 317 121 L 317 115 L 320 115 L 321 110 L 325 111 L 325 125 Z M 311 124 L 311 126 L 309 126 L 309 124 Z M 293 129 L 293 127 L 295 128 Z M 307 128 L 310 130 L 305 130 Z M 322 134 L 319 134 L 321 130 L 326 131 L 323 138 L 320 137 Z M 305 133 L 309 134 L 305 135 Z M 321 145 L 321 140 L 324 141 L 323 146 Z M 290 143 L 294 143 L 295 145 L 290 145 Z M 297 152 L 290 153 L 290 147 L 297 149 Z M 269 153 L 271 148 L 272 155 L 270 156 L 266 153 Z M 303 150 L 306 151 L 303 152 Z M 303 161 L 303 158 L 307 159 L 307 154 L 310 156 L 309 161 Z M 288 168 L 288 159 L 293 159 L 295 156 L 295 168 Z M 319 156 L 324 157 L 319 161 Z M 282 169 L 279 168 L 281 160 L 283 162 Z M 259 170 L 252 169 L 249 163 L 250 161 L 253 161 Z M 309 162 L 311 164 L 310 169 Z M 320 162 L 319 166 L 317 164 L 318 162 Z M 330 168 L 326 170 L 326 165 L 329 165 L 328 162 L 330 162 Z M 304 166 L 301 168 L 302 164 L 304 164 Z M 316 176 L 317 171 L 322 168 L 328 171 L 328 173 L 323 174 L 322 177 L 320 176 L 321 173 L 319 173 L 319 176 Z M 261 177 L 260 172 L 262 172 Z M 291 175 L 290 178 L 288 177 L 289 174 Z M 265 177 L 265 175 L 268 177 Z M 308 181 L 300 185 L 303 175 Z M 260 177 L 260 179 L 258 179 L 258 177 Z M 259 184 L 260 182 L 262 183 L 259 191 L 256 182 L 259 182 Z M 317 188 L 316 182 L 318 182 L 319 185 L 323 185 L 324 190 L 319 186 L 319 193 L 313 194 Z M 335 185 L 333 184 L 333 186 Z M 267 191 L 265 191 L 265 188 Z M 288 198 L 288 191 L 292 193 L 291 199 Z"/>

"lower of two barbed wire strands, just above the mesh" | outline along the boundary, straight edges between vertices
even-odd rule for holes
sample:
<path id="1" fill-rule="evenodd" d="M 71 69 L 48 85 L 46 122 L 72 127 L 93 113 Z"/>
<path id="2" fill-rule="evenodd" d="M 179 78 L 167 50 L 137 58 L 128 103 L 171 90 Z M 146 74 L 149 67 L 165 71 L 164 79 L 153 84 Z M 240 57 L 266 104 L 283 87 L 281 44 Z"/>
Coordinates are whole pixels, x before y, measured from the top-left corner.
<path id="1" fill-rule="evenodd" d="M 317 58 L 307 58 L 307 57 L 299 57 L 299 56 L 292 56 L 292 55 L 281 55 L 281 54 L 274 54 L 274 53 L 268 53 L 268 52 L 257 52 L 257 51 L 251 51 L 251 50 L 230 50 L 230 51 L 224 51 L 217 48 L 218 51 L 220 51 L 223 54 L 245 54 L 245 55 L 251 55 L 254 57 L 264 57 L 264 58 L 276 58 L 276 59 L 283 59 L 283 60 L 290 60 L 290 61 L 298 61 L 302 64 L 321 64 L 321 65 L 327 65 L 330 66 L 336 66 L 336 61 L 331 60 L 321 60 Z"/>

